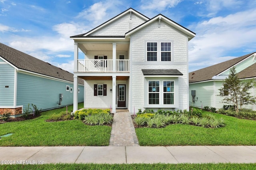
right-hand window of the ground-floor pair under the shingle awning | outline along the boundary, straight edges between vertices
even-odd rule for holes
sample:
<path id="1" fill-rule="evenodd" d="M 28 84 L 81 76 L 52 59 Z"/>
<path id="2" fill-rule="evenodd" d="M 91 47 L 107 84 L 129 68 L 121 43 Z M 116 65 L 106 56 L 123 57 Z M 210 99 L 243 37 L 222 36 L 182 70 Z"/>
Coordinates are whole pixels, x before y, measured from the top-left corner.
<path id="1" fill-rule="evenodd" d="M 163 81 L 164 104 L 174 104 L 174 81 Z"/>

